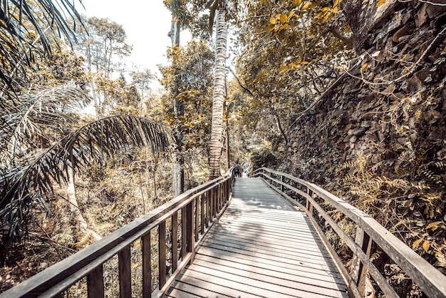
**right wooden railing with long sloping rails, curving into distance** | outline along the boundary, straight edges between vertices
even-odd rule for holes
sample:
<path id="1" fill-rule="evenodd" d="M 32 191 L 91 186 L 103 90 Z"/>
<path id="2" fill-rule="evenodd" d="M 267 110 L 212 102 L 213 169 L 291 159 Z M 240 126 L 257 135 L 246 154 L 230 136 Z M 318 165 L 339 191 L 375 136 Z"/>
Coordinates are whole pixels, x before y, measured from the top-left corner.
<path id="1" fill-rule="evenodd" d="M 349 283 L 351 294 L 355 297 L 362 297 L 361 292 L 363 292 L 366 274 L 370 274 L 370 277 L 378 284 L 385 297 L 398 297 L 395 289 L 390 286 L 383 274 L 370 261 L 371 249 L 375 245 L 378 245 L 427 296 L 446 297 L 445 275 L 422 259 L 405 243 L 398 240 L 397 237 L 376 222 L 370 215 L 358 210 L 321 187 L 286 173 L 260 168 L 253 175 L 261 176 L 267 184 L 306 212 L 316 230 L 318 230 L 318 233 L 326 242 L 328 250 L 335 257 L 338 267 L 341 268 L 344 277 L 346 277 Z M 355 222 L 356 237 L 354 240 L 328 214 L 326 211 L 327 205 L 342 212 L 349 220 Z M 330 225 L 331 229 L 336 232 L 338 237 L 353 252 L 350 269 L 344 266 L 341 257 L 337 255 L 328 242 L 326 235 L 318 224 L 318 222 L 321 222 L 321 218 Z M 372 245 L 372 242 L 375 242 L 375 245 Z"/>

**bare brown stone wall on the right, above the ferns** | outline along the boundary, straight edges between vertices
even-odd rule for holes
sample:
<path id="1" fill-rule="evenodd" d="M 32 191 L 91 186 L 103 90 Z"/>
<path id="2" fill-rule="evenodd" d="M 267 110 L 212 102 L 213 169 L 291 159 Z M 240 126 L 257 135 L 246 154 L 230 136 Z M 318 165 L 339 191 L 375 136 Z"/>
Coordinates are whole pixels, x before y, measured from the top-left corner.
<path id="1" fill-rule="evenodd" d="M 351 18 L 356 45 L 363 45 L 358 63 L 294 121 L 291 168 L 324 184 L 336 166 L 364 155 L 392 163 L 385 168 L 393 174 L 427 179 L 413 171 L 446 159 L 446 6 L 388 0 L 380 10 L 375 1 L 356 2 L 344 9 L 364 14 L 362 27 L 361 18 Z"/>

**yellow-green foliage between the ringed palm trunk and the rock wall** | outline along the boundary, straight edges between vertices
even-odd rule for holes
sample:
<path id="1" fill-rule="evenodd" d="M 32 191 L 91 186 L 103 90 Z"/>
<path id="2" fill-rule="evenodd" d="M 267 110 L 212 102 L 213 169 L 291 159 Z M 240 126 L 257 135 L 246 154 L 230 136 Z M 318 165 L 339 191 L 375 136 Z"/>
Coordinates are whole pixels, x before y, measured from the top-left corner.
<path id="1" fill-rule="evenodd" d="M 244 1 L 234 24 L 237 75 L 254 94 L 243 111 L 245 123 L 258 123 L 264 140 L 286 143 L 294 115 L 311 106 L 353 57 L 351 32 L 338 3 L 328 1 Z"/>

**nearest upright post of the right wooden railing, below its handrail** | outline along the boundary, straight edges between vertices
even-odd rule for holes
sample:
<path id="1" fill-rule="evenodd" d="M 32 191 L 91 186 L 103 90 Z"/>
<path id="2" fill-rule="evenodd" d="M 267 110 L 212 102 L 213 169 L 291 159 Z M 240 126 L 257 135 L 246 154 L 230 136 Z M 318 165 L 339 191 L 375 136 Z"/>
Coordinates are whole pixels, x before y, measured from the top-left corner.
<path id="1" fill-rule="evenodd" d="M 361 247 L 361 250 L 365 252 L 365 255 L 370 257 L 372 240 L 361 227 L 356 227 L 355 242 L 359 245 L 359 247 Z M 365 276 L 367 275 L 367 272 L 363 271 L 363 267 L 363 262 L 361 262 L 356 255 L 353 255 L 353 260 L 351 262 L 351 277 L 353 281 L 356 282 L 360 292 L 363 292 L 363 288 L 365 286 Z"/>

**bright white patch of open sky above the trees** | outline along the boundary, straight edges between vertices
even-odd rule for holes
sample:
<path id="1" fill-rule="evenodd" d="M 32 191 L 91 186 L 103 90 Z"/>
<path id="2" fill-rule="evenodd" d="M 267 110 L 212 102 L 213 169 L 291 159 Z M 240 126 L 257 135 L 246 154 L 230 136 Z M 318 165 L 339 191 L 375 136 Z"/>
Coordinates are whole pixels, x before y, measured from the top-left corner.
<path id="1" fill-rule="evenodd" d="M 172 41 L 171 15 L 162 0 L 82 0 L 81 14 L 108 18 L 123 25 L 128 42 L 133 45 L 129 60 L 142 68 L 159 73 L 157 64 L 167 64 L 165 53 Z M 129 65 L 130 67 L 130 65 Z"/>

